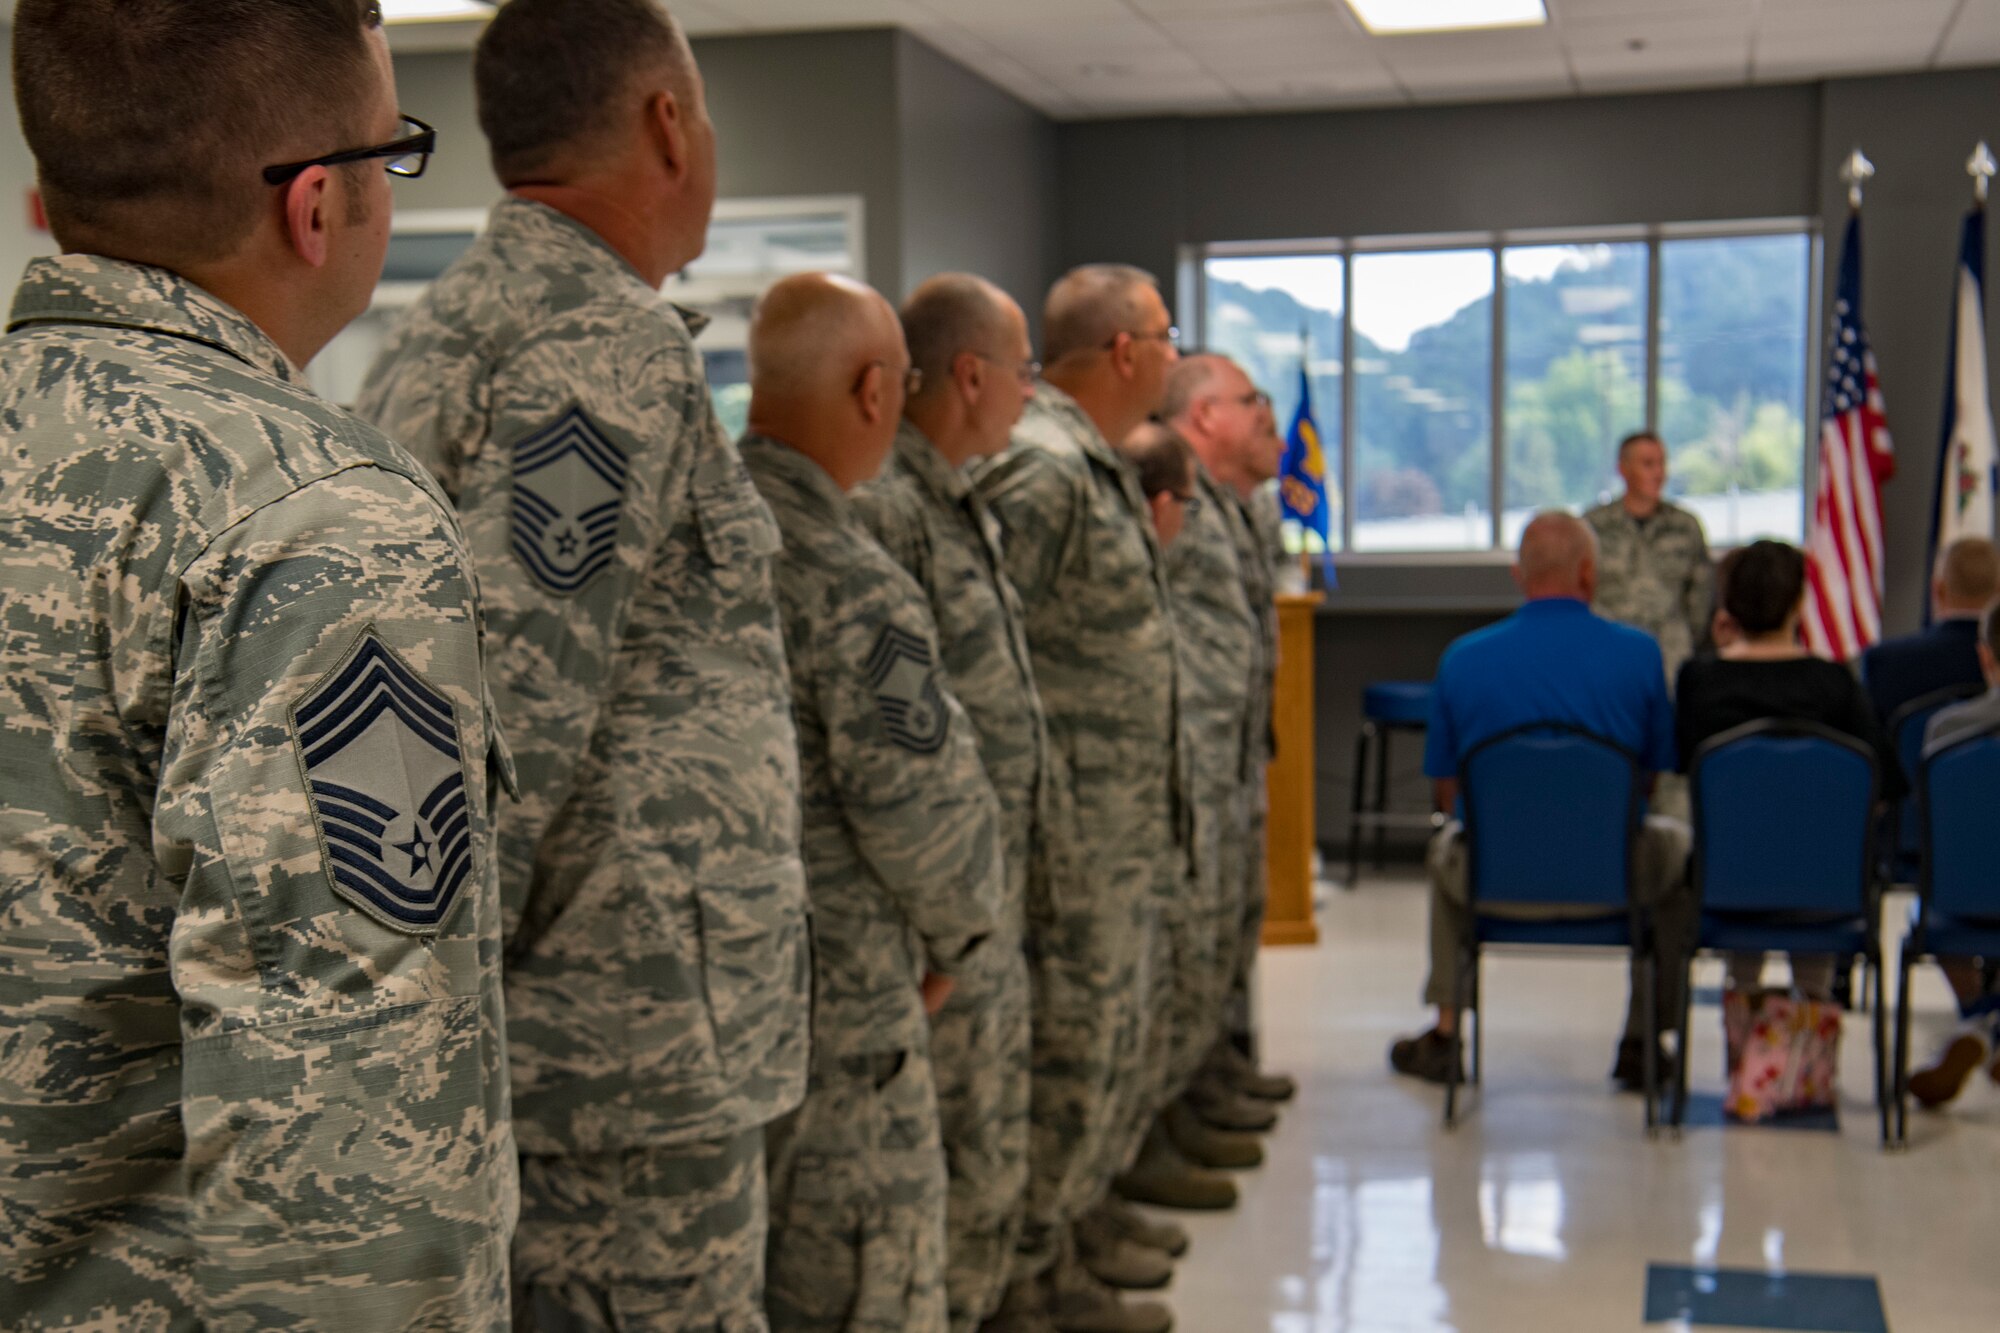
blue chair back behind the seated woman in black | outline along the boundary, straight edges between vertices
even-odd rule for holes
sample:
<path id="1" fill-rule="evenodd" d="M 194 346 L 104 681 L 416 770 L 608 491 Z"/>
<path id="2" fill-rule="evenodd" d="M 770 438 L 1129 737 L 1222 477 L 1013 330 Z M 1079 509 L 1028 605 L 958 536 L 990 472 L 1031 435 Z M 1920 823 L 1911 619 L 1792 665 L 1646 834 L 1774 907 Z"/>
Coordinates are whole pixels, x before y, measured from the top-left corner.
<path id="1" fill-rule="evenodd" d="M 1818 723 L 1764 719 L 1710 737 L 1688 765 L 1704 913 L 1870 911 L 1874 753 Z"/>

